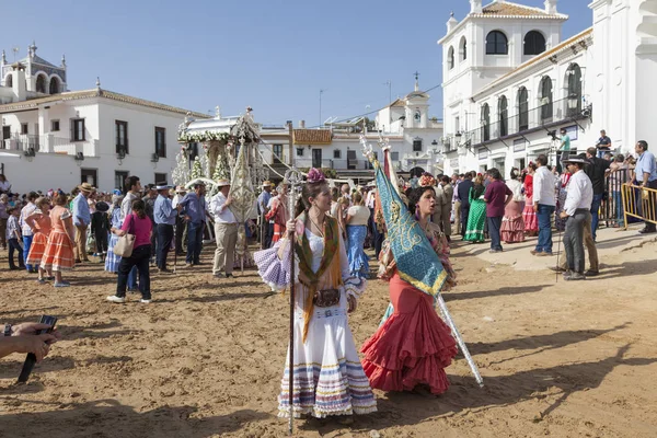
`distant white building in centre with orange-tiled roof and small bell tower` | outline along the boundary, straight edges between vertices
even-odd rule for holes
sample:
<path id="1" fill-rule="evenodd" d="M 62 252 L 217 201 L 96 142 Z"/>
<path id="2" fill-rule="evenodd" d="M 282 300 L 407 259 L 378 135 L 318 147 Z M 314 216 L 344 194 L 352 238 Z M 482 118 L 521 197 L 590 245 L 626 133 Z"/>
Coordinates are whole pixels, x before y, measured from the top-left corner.
<path id="1" fill-rule="evenodd" d="M 358 117 L 331 123 L 322 129 L 306 129 L 301 122 L 291 135 L 288 128 L 263 127 L 263 140 L 269 145 L 262 149 L 265 162 L 278 172 L 285 165 L 279 164 L 277 157 L 290 164 L 291 153 L 298 168 L 327 168 L 341 178 L 371 180 L 371 165 L 361 152 L 360 136 L 365 134 L 369 142 L 376 142 L 380 135 L 390 140 L 391 159 L 401 175 L 441 173 L 442 122 L 429 116 L 429 99 L 419 90 L 416 77 L 415 90 L 379 111 L 369 126 L 366 118 Z"/>

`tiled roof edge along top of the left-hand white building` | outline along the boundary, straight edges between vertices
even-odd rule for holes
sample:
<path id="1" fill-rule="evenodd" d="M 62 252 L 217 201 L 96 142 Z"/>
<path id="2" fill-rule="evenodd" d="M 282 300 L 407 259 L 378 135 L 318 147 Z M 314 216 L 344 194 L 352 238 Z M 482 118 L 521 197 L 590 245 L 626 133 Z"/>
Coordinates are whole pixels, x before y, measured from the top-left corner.
<path id="1" fill-rule="evenodd" d="M 209 118 L 207 114 L 189 112 L 187 110 L 178 108 L 176 106 L 164 105 L 161 103 L 147 101 L 139 97 L 132 97 L 127 94 L 115 93 L 103 89 L 83 90 L 83 91 L 69 91 L 60 94 L 53 94 L 46 97 L 30 99 L 27 101 L 8 103 L 0 105 L 0 113 L 12 113 L 15 111 L 25 111 L 36 108 L 41 104 L 59 101 L 77 101 L 82 99 L 104 97 L 113 101 L 125 102 L 132 105 L 146 106 L 149 108 L 168 111 L 171 113 L 177 113 L 186 115 L 189 113 L 191 116 L 197 118 Z"/>

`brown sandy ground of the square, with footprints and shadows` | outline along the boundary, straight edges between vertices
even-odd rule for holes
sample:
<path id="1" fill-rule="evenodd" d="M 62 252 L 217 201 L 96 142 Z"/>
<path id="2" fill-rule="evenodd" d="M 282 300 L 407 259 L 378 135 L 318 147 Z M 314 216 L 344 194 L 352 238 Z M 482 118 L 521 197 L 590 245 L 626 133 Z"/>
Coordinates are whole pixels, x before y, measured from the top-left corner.
<path id="1" fill-rule="evenodd" d="M 655 437 L 657 269 L 654 237 L 602 230 L 603 273 L 568 284 L 530 243 L 454 244 L 459 287 L 446 293 L 485 380 L 462 356 L 439 397 L 377 392 L 379 412 L 297 420 L 302 437 Z M 205 265 L 153 274 L 150 306 L 104 301 L 115 277 L 77 267 L 73 287 L 37 286 L 0 257 L 0 321 L 59 316 L 64 341 L 16 385 L 23 357 L 0 360 L 0 437 L 283 437 L 276 395 L 287 302 L 254 272 L 214 279 Z M 388 303 L 372 280 L 351 316 L 360 345 Z M 379 434 L 379 435 L 377 435 Z"/>

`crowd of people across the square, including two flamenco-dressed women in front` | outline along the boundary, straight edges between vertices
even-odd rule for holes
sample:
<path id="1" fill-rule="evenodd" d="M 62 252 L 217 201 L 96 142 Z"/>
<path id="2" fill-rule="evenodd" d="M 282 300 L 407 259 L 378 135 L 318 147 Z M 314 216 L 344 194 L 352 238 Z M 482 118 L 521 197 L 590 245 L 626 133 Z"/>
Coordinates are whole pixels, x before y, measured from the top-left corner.
<path id="1" fill-rule="evenodd" d="M 431 394 L 448 389 L 445 368 L 456 356 L 454 338 L 435 311 L 436 297 L 401 267 L 399 242 L 394 246 L 394 241 L 385 239 L 390 221 L 394 227 L 407 227 L 404 232 L 420 230 L 426 239 L 413 244 L 427 245 L 424 250 L 428 253 L 423 254 L 430 254 L 441 291 L 457 284 L 450 242 L 458 234 L 464 242 L 488 239 L 491 253 L 504 251 L 503 242 L 517 243 L 527 235 L 538 235 L 531 254 L 551 256 L 556 228 L 564 231 L 565 257 L 553 269 L 563 272 L 565 280 L 598 275 L 596 230 L 601 204 L 612 201 L 618 207 L 616 184 L 633 182 L 657 188 L 657 165 L 645 141 L 636 145 L 636 161 L 604 153 L 600 158 L 597 149 L 563 153 L 563 172 L 550 166 L 545 155 L 539 155 L 527 169 L 512 169 L 506 182 L 497 169 L 451 177 L 425 173 L 401 182 L 399 199 L 405 205 L 401 211 L 392 208 L 396 198 L 384 201 L 392 207 L 382 204 L 377 184 L 331 187 L 315 169 L 309 172 L 295 206 L 289 205 L 286 181 L 278 187 L 264 182 L 256 216 L 243 224 L 243 231 L 247 239 L 257 235 L 260 240 L 261 251 L 253 254 L 253 260 L 263 280 L 273 290 L 295 284 L 297 291 L 295 369 L 286 365 L 284 371 L 280 415 L 349 418 L 377 410 L 372 389 Z M 610 186 L 613 193 L 606 196 Z M 92 253 L 105 270 L 117 275 L 116 292 L 107 300 L 124 303 L 128 291 L 139 290 L 140 302 L 150 303 L 151 264 L 162 275 L 170 274 L 171 251 L 176 256 L 185 255 L 185 267 L 194 269 L 201 264 L 204 242 L 214 239 L 217 247 L 212 274 L 217 278 L 232 277 L 242 224 L 230 208 L 230 193 L 228 180 L 218 181 L 216 193 L 206 200 L 201 182 L 195 182 L 191 189 L 164 183 L 142 188 L 138 176 L 126 180 L 124 193 L 102 194 L 83 183 L 69 196 L 61 191 L 30 193 L 23 197 L 24 205 L 15 195 L 3 193 L 0 219 L 5 240 L 0 243 L 9 249 L 11 269 L 37 274 L 41 284 L 54 280 L 55 287 L 70 286 L 62 273 L 76 264 L 92 263 Z M 290 211 L 292 207 L 295 211 Z M 641 230 L 655 231 L 649 221 Z M 128 235 L 132 237 L 132 250 L 122 257 L 117 253 L 125 254 L 122 244 Z M 391 306 L 380 327 L 361 346 L 364 358 L 359 359 L 348 313 L 358 308 L 370 278 L 366 246 L 374 250 L 379 261 L 377 277 L 390 285 Z M 34 336 L 38 330 L 34 324 L 7 327 L 5 335 L 15 338 L 0 344 L 0 357 L 31 351 L 41 359 L 58 338 L 57 333 Z M 290 378 L 295 400 L 291 407 Z"/>

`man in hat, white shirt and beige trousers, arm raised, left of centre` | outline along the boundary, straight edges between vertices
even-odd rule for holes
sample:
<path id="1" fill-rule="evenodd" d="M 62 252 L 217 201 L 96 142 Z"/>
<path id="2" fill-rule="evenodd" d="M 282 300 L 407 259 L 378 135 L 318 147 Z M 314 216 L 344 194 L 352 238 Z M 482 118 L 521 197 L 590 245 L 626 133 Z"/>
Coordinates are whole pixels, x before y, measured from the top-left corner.
<path id="1" fill-rule="evenodd" d="M 223 270 L 226 278 L 230 278 L 232 277 L 235 261 L 238 220 L 230 208 L 228 208 L 232 204 L 232 197 L 228 196 L 230 181 L 219 180 L 217 185 L 219 186 L 219 193 L 212 196 L 210 200 L 210 212 L 215 217 L 215 238 L 217 239 L 212 274 L 215 278 L 221 278 L 221 270 Z"/>

